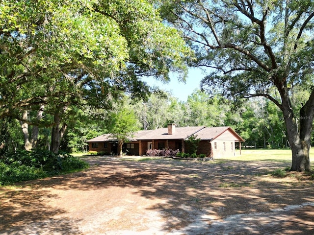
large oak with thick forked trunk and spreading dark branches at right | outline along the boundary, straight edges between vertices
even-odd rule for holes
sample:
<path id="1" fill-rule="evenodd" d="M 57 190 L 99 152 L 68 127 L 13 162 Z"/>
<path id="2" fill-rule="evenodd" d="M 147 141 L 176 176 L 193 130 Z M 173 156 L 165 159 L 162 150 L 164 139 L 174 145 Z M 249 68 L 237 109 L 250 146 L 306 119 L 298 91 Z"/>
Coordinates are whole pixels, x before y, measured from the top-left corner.
<path id="1" fill-rule="evenodd" d="M 314 1 L 165 0 L 164 18 L 211 69 L 203 88 L 233 98 L 263 96 L 282 111 L 291 170 L 310 170 L 314 117 Z M 298 109 L 294 91 L 303 90 Z M 309 95 L 307 95 L 309 94 Z"/>

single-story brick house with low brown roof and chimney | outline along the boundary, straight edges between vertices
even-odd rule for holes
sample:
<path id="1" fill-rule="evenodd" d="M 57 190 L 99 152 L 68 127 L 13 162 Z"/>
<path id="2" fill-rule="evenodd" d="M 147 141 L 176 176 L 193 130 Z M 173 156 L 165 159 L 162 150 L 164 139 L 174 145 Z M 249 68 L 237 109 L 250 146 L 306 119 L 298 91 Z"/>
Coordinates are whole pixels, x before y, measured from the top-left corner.
<path id="1" fill-rule="evenodd" d="M 201 139 L 197 154 L 222 158 L 235 155 L 235 143 L 238 143 L 241 154 L 241 142 L 244 140 L 229 126 L 223 127 L 176 127 L 174 123 L 167 128 L 138 131 L 130 142 L 123 145 L 128 155 L 145 155 L 148 149 L 179 149 L 188 152 L 187 140 L 192 135 Z M 117 154 L 117 140 L 110 134 L 104 134 L 88 140 L 89 151 Z"/>

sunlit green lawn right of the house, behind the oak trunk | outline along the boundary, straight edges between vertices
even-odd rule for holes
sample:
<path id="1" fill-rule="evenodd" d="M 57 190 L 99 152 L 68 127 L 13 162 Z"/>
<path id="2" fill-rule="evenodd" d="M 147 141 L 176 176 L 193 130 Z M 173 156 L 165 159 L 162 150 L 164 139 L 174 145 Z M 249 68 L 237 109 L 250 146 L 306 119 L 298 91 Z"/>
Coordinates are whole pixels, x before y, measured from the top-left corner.
<path id="1" fill-rule="evenodd" d="M 224 157 L 217 160 L 235 160 L 235 161 L 280 161 L 291 162 L 292 154 L 290 149 L 242 149 L 241 155 L 236 150 L 235 156 Z M 314 150 L 310 150 L 310 161 L 314 161 Z M 312 156 L 312 158 L 311 158 Z"/>

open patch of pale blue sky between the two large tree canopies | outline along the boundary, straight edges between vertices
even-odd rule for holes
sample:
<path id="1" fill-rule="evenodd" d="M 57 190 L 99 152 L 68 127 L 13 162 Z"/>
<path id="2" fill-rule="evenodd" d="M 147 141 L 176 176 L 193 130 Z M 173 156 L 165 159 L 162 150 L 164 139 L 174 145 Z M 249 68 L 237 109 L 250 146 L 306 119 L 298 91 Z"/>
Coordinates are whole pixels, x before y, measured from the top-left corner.
<path id="1" fill-rule="evenodd" d="M 179 82 L 176 77 L 172 77 L 169 83 L 162 83 L 153 78 L 143 79 L 150 86 L 158 86 L 161 90 L 170 92 L 174 97 L 180 101 L 186 101 L 187 96 L 192 94 L 195 90 L 200 89 L 200 82 L 204 77 L 204 73 L 200 69 L 189 69 L 186 82 Z"/>

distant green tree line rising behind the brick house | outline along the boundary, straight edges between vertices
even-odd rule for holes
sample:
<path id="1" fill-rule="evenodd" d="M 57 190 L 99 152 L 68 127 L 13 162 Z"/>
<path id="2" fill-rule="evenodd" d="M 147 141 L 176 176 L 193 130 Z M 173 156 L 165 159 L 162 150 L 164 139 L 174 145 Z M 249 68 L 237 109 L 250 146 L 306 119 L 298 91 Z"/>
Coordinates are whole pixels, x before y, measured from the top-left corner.
<path id="1" fill-rule="evenodd" d="M 86 152 L 87 140 L 104 133 L 119 132 L 115 130 L 117 128 L 126 129 L 126 125 L 132 125 L 132 131 L 153 130 L 167 127 L 168 123 L 175 123 L 178 127 L 231 126 L 245 139 L 242 144 L 244 147 L 289 147 L 280 110 L 264 98 L 236 101 L 221 95 L 209 98 L 205 92 L 195 90 L 187 101 L 179 101 L 171 94 L 159 91 L 145 100 L 124 96 L 112 109 L 98 109 L 93 112 L 77 109 L 75 113 L 75 121 L 68 124 L 60 150 Z M 36 113 L 33 115 L 36 116 Z M 6 133 L 2 138 L 6 138 L 8 151 L 24 148 L 24 132 L 17 120 L 11 123 L 2 120 L 1 127 L 2 133 Z M 31 133 L 33 128 L 28 126 Z M 50 127 L 39 128 L 35 147 L 49 149 L 51 132 Z"/>

